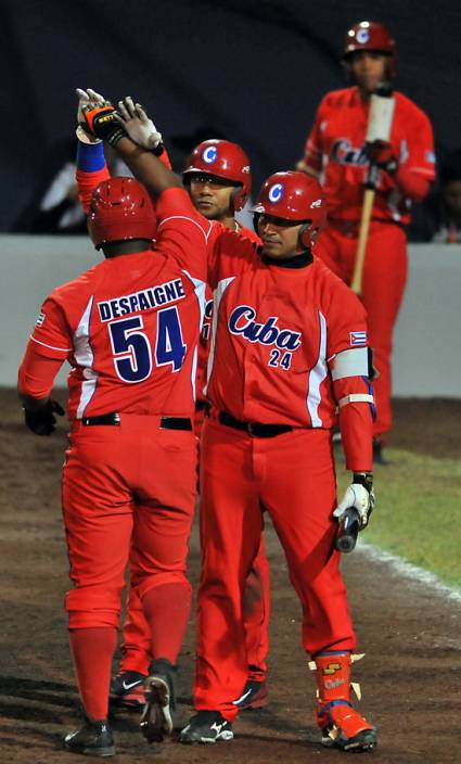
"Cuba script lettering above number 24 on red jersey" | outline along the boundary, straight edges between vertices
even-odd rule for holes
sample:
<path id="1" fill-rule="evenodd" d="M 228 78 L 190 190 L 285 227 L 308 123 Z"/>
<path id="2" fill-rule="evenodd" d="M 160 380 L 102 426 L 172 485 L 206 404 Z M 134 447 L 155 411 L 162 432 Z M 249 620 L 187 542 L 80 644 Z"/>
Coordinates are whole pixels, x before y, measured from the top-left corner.
<path id="1" fill-rule="evenodd" d="M 229 318 L 232 334 L 242 334 L 248 342 L 261 345 L 276 345 L 281 351 L 296 351 L 300 346 L 300 332 L 293 329 L 280 329 L 278 316 L 270 316 L 265 323 L 258 323 L 256 310 L 251 305 L 239 305 Z"/>

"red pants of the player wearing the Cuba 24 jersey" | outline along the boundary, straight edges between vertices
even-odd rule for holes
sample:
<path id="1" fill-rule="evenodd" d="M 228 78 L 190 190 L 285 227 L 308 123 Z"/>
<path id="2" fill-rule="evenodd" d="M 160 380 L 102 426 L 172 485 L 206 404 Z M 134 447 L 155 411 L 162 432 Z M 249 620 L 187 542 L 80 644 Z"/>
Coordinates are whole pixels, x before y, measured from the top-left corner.
<path id="1" fill-rule="evenodd" d="M 336 485 L 330 432 L 252 437 L 208 419 L 202 437 L 202 574 L 195 708 L 231 721 L 247 678 L 242 600 L 259 549 L 261 506 L 283 546 L 303 607 L 303 647 L 353 650 L 355 635 L 333 548 Z"/>

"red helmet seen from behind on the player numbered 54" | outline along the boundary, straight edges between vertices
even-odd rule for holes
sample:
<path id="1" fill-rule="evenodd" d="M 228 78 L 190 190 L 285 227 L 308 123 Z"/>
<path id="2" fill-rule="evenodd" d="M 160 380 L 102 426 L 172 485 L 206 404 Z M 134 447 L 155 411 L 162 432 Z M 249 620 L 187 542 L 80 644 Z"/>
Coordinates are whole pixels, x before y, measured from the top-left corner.
<path id="1" fill-rule="evenodd" d="M 135 178 L 110 178 L 97 186 L 88 222 L 97 250 L 113 241 L 152 241 L 157 232 L 151 198 Z"/>

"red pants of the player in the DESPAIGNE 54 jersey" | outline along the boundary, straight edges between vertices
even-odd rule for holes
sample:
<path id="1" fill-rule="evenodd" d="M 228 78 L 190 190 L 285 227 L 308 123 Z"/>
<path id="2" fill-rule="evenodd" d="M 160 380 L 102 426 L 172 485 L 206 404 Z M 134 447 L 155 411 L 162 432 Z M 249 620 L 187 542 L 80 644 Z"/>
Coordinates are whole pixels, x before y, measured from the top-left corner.
<path id="1" fill-rule="evenodd" d="M 63 469 L 71 578 L 69 628 L 118 626 L 125 568 L 136 562 L 141 600 L 185 577 L 196 486 L 192 432 L 123 415 L 120 426 L 76 423 Z"/>

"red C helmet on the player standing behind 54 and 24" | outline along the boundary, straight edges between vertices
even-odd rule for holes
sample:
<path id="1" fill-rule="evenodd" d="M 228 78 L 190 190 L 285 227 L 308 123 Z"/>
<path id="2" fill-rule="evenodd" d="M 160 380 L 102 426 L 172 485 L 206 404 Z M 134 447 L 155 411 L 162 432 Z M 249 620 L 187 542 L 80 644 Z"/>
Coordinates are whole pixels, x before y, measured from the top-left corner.
<path id="1" fill-rule="evenodd" d="M 242 188 L 232 195 L 235 212 L 242 209 L 252 190 L 249 160 L 243 149 L 231 141 L 214 138 L 199 143 L 182 174 L 185 181 L 192 173 L 206 173 L 239 183 Z"/>

